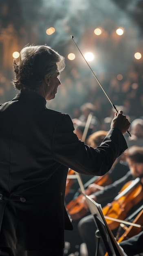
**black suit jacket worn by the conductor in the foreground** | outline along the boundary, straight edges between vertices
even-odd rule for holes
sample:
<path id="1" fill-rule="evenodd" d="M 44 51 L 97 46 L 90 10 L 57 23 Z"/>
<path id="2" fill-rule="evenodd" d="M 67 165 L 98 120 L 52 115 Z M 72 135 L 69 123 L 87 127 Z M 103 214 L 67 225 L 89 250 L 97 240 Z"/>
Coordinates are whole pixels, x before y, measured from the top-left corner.
<path id="1" fill-rule="evenodd" d="M 53 249 L 56 241 L 63 248 L 64 228 L 71 229 L 64 207 L 68 168 L 103 175 L 127 148 L 118 129 L 96 149 L 73 130 L 68 115 L 47 109 L 34 92 L 21 91 L 0 107 L 0 246 Z"/>

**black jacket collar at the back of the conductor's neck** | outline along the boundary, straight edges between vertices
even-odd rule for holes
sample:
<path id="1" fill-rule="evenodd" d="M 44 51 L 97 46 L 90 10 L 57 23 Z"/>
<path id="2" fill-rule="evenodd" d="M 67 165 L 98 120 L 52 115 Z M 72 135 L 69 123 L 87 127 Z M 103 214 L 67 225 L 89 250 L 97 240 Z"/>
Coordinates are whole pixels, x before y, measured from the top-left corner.
<path id="1" fill-rule="evenodd" d="M 46 106 L 46 100 L 39 94 L 28 91 L 28 90 L 21 90 L 20 93 L 18 93 L 12 101 L 20 100 L 25 102 L 31 102 L 33 104 L 39 105 L 39 106 Z"/>

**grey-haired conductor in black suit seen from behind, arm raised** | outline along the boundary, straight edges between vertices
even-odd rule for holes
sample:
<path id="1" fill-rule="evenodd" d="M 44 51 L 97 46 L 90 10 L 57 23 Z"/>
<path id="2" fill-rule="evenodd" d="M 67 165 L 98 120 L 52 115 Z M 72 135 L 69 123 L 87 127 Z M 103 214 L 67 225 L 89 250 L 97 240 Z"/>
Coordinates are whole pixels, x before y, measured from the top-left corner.
<path id="1" fill-rule="evenodd" d="M 0 255 L 63 256 L 68 168 L 104 175 L 126 149 L 130 122 L 119 110 L 98 148 L 74 134 L 64 113 L 46 108 L 54 99 L 64 57 L 46 45 L 26 45 L 13 62 L 20 91 L 0 106 Z"/>

